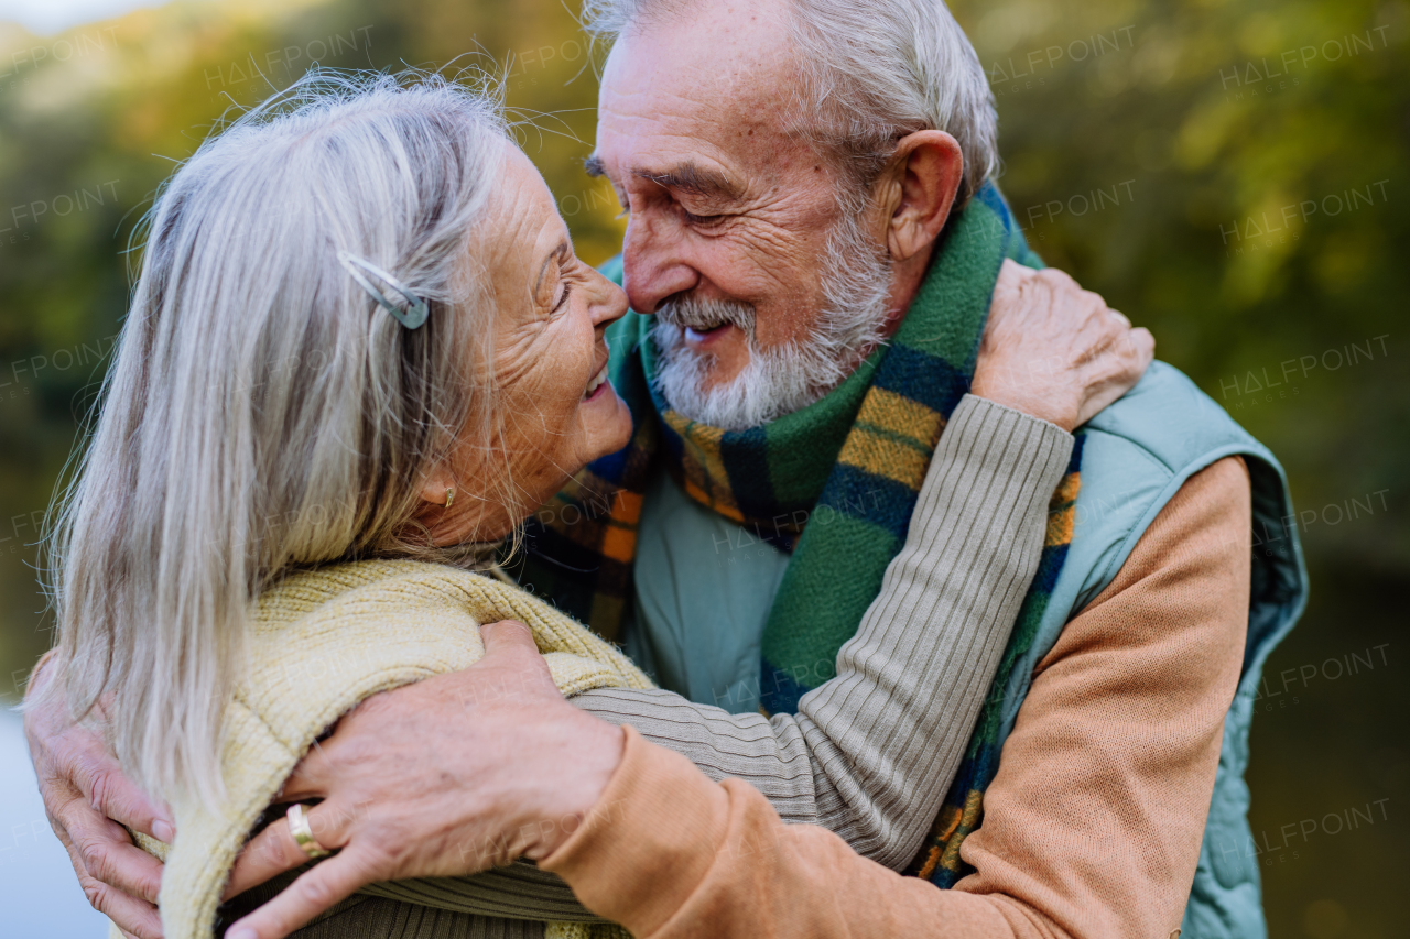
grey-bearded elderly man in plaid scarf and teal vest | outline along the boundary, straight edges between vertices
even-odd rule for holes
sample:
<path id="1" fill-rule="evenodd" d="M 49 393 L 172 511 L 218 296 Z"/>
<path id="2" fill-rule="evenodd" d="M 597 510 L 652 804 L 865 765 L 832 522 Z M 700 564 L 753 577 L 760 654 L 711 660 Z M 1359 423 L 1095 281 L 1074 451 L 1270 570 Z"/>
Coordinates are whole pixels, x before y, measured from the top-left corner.
<path id="1" fill-rule="evenodd" d="M 929 736 L 912 692 L 953 650 L 857 629 L 884 577 L 928 575 L 907 570 L 922 479 L 938 443 L 984 426 L 964 391 L 1001 265 L 1036 264 L 987 182 L 983 69 L 939 0 L 603 0 L 594 17 L 615 47 L 589 171 L 630 211 L 639 314 L 613 330 L 612 378 L 637 433 L 550 506 L 522 577 L 668 687 L 778 716 L 632 712 L 611 692 L 575 708 L 501 626 L 485 663 L 360 709 L 306 761 L 286 797 L 326 797 L 320 840 L 343 853 L 231 939 L 488 863 L 465 845 L 541 860 L 640 935 L 1258 935 L 1256 871 L 1228 846 L 1246 837 L 1253 687 L 1303 596 L 1276 461 L 1153 367 L 1079 433 L 1007 651 L 953 653 L 993 677 L 967 744 Z M 876 712 L 819 698 L 835 663 L 905 694 Z M 825 711 L 847 719 L 808 716 Z M 636 730 L 603 736 L 587 712 Z M 541 785 L 570 757 L 603 771 Z M 537 823 L 563 818 L 587 823 Z M 250 857 L 241 887 L 293 866 Z"/>

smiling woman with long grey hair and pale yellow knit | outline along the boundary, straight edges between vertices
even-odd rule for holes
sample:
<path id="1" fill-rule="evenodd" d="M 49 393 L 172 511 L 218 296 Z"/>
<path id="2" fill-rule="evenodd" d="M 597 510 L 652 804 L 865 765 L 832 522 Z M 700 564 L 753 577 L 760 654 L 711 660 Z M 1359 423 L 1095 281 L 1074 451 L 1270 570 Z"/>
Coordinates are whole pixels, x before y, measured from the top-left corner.
<path id="1" fill-rule="evenodd" d="M 527 515 L 627 443 L 632 416 L 606 381 L 605 343 L 626 310 L 622 290 L 574 257 L 551 195 L 492 100 L 453 83 L 314 79 L 241 117 L 173 175 L 152 210 L 121 351 L 65 503 L 55 541 L 61 642 L 31 702 L 52 713 L 62 695 L 106 735 L 123 771 L 172 806 L 172 843 L 140 839 L 166 860 L 159 907 L 169 939 L 207 936 L 247 911 L 248 898 L 217 907 L 288 867 L 288 850 L 300 861 L 327 853 L 317 823 L 331 830 L 327 812 L 283 805 L 290 771 L 364 698 L 474 667 L 485 644 L 512 644 L 503 630 L 515 627 L 499 620 L 530 627 L 565 695 L 622 688 L 613 701 L 677 706 L 495 564 Z M 1015 336 L 1032 321 L 994 314 Z M 1122 329 L 1081 341 L 1112 355 Z M 1024 354 L 1050 352 L 1012 345 L 1018 355 L 986 344 L 976 385 L 984 376 L 1001 389 L 994 375 L 1022 369 Z M 1096 400 L 1087 385 L 1110 400 L 1134 383 L 1149 350 L 1127 355 L 1114 371 L 1073 378 L 1074 399 Z M 1066 444 L 1032 440 L 1041 446 L 1015 470 L 1031 477 L 1011 513 L 1028 557 L 1012 574 L 1017 595 L 1066 464 Z M 931 550 L 928 534 L 964 509 L 942 498 L 963 470 L 956 458 L 936 455 L 921 496 L 932 508 L 912 522 L 915 551 Z M 1012 616 L 949 616 L 946 603 L 959 601 L 925 570 L 888 572 L 859 640 L 908 603 L 956 623 L 936 642 L 977 643 L 993 664 Z M 835 681 L 862 687 L 862 699 L 919 696 L 884 671 L 846 665 Z M 926 713 L 953 720 L 963 739 L 986 687 L 932 677 Z M 513 702 L 516 692 L 503 695 Z M 611 706 L 594 711 L 611 718 Z M 565 737 L 620 739 L 608 720 L 572 713 Z M 828 719 L 819 726 L 826 736 Z M 815 774 L 830 771 L 818 768 L 815 743 L 795 743 Z M 560 794 L 556 805 L 585 812 L 613 767 L 564 764 L 541 785 Z M 908 780 L 893 782 L 907 798 Z M 247 863 L 255 873 L 228 884 L 262 818 L 258 846 L 288 850 L 262 873 L 258 859 Z M 396 876 L 464 874 L 543 857 L 554 843 L 467 847 L 457 837 L 447 828 L 434 860 L 419 854 Z M 523 877 L 520 897 L 525 883 L 543 881 Z M 594 919 L 561 890 L 513 909 L 484 900 L 496 890 L 484 883 L 494 881 L 384 885 L 306 933 L 536 935 L 548 922 L 570 935 L 581 926 L 565 922 Z M 446 900 L 457 891 L 468 897 L 458 907 Z M 479 915 L 496 911 L 512 918 Z M 138 921 L 128 909 L 124 925 Z"/>

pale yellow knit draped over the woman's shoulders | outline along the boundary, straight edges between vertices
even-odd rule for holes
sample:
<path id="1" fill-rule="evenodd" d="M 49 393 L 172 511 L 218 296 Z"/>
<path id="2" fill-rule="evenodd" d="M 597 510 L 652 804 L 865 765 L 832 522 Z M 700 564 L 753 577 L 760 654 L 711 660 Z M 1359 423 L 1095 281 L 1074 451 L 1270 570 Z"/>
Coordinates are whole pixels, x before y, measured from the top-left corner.
<path id="1" fill-rule="evenodd" d="M 241 846 L 319 735 L 378 691 L 475 664 L 485 651 L 479 625 L 501 619 L 533 630 L 564 695 L 653 687 L 632 660 L 548 603 L 441 564 L 341 564 L 289 577 L 261 596 L 250 665 L 226 715 L 226 799 L 173 805 L 169 847 L 140 839 L 166 861 L 159 897 L 166 939 L 210 939 Z M 548 926 L 556 939 L 595 932 Z M 116 926 L 111 935 L 120 935 Z"/>

